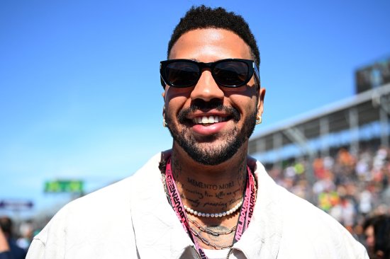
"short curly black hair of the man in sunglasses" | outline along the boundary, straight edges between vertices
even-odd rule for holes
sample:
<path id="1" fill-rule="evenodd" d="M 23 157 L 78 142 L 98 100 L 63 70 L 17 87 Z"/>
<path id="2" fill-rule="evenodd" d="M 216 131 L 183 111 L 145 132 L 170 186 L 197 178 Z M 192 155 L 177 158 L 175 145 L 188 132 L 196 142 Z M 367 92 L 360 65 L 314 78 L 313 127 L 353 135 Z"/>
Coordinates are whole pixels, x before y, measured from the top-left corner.
<path id="1" fill-rule="evenodd" d="M 228 12 L 222 7 L 211 8 L 204 5 L 192 6 L 185 16 L 180 19 L 168 43 L 168 57 L 174 43 L 184 33 L 201 28 L 221 28 L 237 34 L 250 47 L 257 67 L 260 66 L 259 48 L 257 47 L 255 36 L 244 18 L 236 13 Z"/>

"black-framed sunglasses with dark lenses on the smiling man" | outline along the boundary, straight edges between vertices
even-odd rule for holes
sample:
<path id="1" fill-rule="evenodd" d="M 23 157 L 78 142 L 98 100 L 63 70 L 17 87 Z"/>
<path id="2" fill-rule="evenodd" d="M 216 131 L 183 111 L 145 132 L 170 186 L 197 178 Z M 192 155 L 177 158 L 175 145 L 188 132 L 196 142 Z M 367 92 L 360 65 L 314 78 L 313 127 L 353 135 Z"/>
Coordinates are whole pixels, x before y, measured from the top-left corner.
<path id="1" fill-rule="evenodd" d="M 221 59 L 204 63 L 190 59 L 169 59 L 160 62 L 161 84 L 184 88 L 195 86 L 204 69 L 210 69 L 219 86 L 239 87 L 247 84 L 253 74 L 260 84 L 259 70 L 253 60 Z"/>

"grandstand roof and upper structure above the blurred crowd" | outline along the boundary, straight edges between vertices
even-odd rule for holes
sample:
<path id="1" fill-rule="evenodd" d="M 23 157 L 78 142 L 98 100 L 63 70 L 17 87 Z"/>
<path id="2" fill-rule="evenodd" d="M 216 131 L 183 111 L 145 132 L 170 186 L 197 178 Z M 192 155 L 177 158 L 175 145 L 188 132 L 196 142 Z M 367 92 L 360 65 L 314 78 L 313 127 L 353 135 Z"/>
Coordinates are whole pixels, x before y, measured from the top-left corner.
<path id="1" fill-rule="evenodd" d="M 389 146 L 390 84 L 327 105 L 252 137 L 249 153 L 264 163 L 297 156 L 331 154 L 348 146 L 357 154 L 362 142 Z"/>

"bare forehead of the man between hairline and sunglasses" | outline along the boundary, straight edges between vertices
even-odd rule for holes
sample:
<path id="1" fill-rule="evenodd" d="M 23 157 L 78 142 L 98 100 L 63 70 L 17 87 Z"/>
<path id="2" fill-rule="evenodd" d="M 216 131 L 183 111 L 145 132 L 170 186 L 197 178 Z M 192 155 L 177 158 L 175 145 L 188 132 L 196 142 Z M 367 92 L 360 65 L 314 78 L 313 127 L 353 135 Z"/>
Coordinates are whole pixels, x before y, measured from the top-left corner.
<path id="1" fill-rule="evenodd" d="M 213 62 L 218 59 L 252 59 L 250 47 L 230 30 L 205 28 L 190 30 L 174 43 L 169 59 L 194 59 Z"/>

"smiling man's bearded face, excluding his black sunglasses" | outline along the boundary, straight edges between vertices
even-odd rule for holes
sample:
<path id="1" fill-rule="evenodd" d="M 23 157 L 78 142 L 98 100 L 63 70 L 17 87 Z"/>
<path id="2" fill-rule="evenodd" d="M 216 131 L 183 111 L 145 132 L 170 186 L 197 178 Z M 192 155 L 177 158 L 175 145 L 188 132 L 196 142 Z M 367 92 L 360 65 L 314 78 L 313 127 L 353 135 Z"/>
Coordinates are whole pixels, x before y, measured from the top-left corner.
<path id="1" fill-rule="evenodd" d="M 169 56 L 197 62 L 228 58 L 253 59 L 250 47 L 238 35 L 215 28 L 185 33 Z M 252 134 L 256 115 L 262 114 L 264 93 L 257 88 L 254 76 L 245 86 L 227 88 L 218 86 L 208 69 L 195 86 L 166 86 L 165 120 L 174 145 L 202 164 L 227 161 Z"/>

